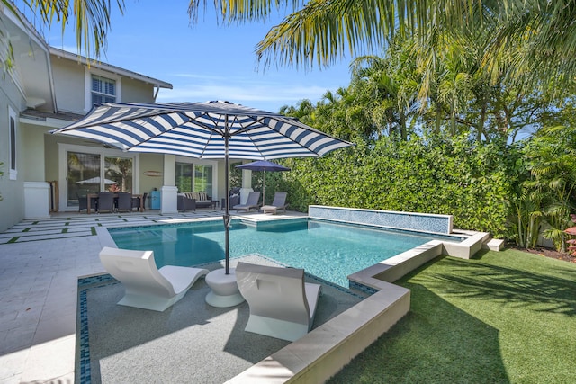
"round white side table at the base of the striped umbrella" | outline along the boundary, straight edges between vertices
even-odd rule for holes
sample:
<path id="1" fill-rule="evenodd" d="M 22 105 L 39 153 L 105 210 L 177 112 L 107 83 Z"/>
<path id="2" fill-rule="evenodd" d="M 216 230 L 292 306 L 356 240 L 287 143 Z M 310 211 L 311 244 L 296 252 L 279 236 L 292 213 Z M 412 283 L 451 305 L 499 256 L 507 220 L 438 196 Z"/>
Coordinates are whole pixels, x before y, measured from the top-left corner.
<path id="1" fill-rule="evenodd" d="M 211 271 L 206 275 L 205 281 L 211 288 L 206 295 L 206 302 L 212 307 L 234 307 L 244 301 L 238 290 L 235 268 L 229 268 L 229 274 L 226 274 L 224 268 Z"/>

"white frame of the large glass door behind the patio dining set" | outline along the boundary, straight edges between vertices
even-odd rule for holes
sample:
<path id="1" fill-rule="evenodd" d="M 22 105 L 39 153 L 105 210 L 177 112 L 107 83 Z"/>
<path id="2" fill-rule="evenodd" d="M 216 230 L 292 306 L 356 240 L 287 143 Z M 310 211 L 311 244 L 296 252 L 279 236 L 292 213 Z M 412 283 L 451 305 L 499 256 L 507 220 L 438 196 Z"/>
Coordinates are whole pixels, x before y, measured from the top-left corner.
<path id="1" fill-rule="evenodd" d="M 125 157 L 132 159 L 132 165 L 134 166 L 133 174 L 132 174 L 132 189 L 133 193 L 138 194 L 140 188 L 140 156 L 137 153 L 126 153 L 122 152 L 119 149 L 108 149 L 108 148 L 100 148 L 100 147 L 85 147 L 85 146 L 76 146 L 72 144 L 63 144 L 58 143 L 58 185 L 59 188 L 59 207 L 60 211 L 66 210 L 77 210 L 77 207 L 68 207 L 67 206 L 67 152 L 80 152 L 80 153 L 89 153 L 89 154 L 96 154 L 100 155 L 100 161 L 103 169 L 103 162 L 106 156 L 112 157 Z"/>

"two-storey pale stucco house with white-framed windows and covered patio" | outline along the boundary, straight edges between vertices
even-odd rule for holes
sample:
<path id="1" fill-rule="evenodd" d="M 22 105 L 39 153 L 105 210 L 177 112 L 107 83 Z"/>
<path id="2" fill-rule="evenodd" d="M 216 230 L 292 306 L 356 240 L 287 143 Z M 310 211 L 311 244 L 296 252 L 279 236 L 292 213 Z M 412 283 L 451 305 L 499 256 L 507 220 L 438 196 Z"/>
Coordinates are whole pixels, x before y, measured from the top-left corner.
<path id="1" fill-rule="evenodd" d="M 224 165 L 213 160 L 126 154 L 51 135 L 93 103 L 154 103 L 165 81 L 49 47 L 22 14 L 0 6 L 0 55 L 14 49 L 14 67 L 0 79 L 0 232 L 23 219 L 78 210 L 78 196 L 118 183 L 126 192 L 152 192 L 147 208 L 176 211 L 176 193 L 224 197 Z M 94 183 L 95 181 L 95 183 Z M 148 198 L 150 196 L 148 195 Z M 150 204 L 153 206 L 150 206 Z"/>

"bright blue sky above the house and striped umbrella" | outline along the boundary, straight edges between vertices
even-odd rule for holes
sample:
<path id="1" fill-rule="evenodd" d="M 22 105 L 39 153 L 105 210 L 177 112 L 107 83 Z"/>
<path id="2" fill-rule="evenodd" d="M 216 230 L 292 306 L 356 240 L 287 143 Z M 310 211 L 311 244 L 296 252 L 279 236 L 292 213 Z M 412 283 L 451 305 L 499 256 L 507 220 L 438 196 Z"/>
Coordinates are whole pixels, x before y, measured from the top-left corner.
<path id="1" fill-rule="evenodd" d="M 191 25 L 186 0 L 126 0 L 123 16 L 113 8 L 101 59 L 171 83 L 174 89 L 160 91 L 157 102 L 228 100 L 277 112 L 302 99 L 316 103 L 326 91 L 350 83 L 349 57 L 308 72 L 285 66 L 258 69 L 254 49 L 282 20 L 280 15 L 267 22 L 224 26 L 216 21 L 211 1 L 207 3 L 206 13 Z M 71 27 L 64 39 L 58 25 L 44 35 L 49 45 L 77 52 Z"/>

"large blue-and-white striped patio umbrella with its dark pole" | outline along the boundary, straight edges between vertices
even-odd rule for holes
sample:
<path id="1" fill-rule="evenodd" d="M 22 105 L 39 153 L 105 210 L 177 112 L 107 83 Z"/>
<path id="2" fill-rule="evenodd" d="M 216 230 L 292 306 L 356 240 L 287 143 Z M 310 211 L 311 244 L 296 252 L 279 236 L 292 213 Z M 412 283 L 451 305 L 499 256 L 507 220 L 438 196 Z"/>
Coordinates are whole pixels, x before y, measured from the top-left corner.
<path id="1" fill-rule="evenodd" d="M 84 118 L 51 133 L 88 138 L 127 152 L 226 160 L 226 273 L 229 272 L 229 157 L 319 157 L 349 147 L 284 115 L 229 102 L 95 103 Z"/>

